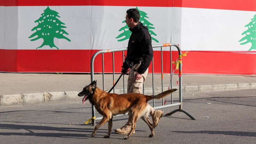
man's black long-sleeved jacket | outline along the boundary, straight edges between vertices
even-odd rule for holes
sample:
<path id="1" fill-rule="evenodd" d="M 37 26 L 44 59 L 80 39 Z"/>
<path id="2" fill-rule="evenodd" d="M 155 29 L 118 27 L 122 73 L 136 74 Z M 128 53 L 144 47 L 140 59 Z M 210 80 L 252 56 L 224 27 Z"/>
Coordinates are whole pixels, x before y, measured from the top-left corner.
<path id="1" fill-rule="evenodd" d="M 148 27 L 139 22 L 136 27 L 132 29 L 129 28 L 129 30 L 132 34 L 128 42 L 127 57 L 125 58 L 122 67 L 127 70 L 129 69 L 128 64 L 125 62 L 126 59 L 128 59 L 129 62 L 134 63 L 138 63 L 139 59 L 143 59 L 138 72 L 144 73 L 153 59 L 153 48 Z"/>

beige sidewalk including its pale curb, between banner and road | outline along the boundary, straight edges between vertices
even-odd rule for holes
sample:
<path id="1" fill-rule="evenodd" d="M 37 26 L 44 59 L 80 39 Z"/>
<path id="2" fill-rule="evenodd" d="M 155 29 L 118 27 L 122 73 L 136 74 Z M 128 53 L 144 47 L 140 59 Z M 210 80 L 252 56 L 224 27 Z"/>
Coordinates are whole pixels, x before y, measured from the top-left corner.
<path id="1" fill-rule="evenodd" d="M 115 75 L 115 80 L 120 74 Z M 123 93 L 120 79 L 115 93 Z M 113 86 L 113 74 L 105 74 L 105 90 Z M 173 87 L 177 86 L 178 75 L 173 75 Z M 103 89 L 102 75 L 94 75 L 97 86 Z M 90 84 L 90 74 L 49 74 L 49 73 L 0 73 L 0 106 L 28 105 L 46 102 L 80 100 L 77 96 L 85 85 Z M 163 76 L 164 89 L 170 83 L 170 74 Z M 154 87 L 161 89 L 161 74 L 154 75 Z M 256 76 L 244 75 L 182 75 L 182 92 L 211 92 L 222 90 L 256 88 Z M 113 92 L 113 91 L 112 91 Z M 152 75 L 145 81 L 145 94 L 152 95 Z"/>

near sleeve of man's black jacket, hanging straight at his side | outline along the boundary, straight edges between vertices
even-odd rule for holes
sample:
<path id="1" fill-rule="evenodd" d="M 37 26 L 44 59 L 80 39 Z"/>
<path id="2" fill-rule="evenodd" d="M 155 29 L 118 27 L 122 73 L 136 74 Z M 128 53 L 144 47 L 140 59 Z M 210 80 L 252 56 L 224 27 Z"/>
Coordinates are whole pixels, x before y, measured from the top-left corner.
<path id="1" fill-rule="evenodd" d="M 143 63 L 141 63 L 140 68 L 137 72 L 144 73 L 151 63 L 153 59 L 153 48 L 151 43 L 151 36 L 150 34 L 145 34 L 143 38 L 144 42 L 142 42 L 142 52 L 143 52 Z"/>

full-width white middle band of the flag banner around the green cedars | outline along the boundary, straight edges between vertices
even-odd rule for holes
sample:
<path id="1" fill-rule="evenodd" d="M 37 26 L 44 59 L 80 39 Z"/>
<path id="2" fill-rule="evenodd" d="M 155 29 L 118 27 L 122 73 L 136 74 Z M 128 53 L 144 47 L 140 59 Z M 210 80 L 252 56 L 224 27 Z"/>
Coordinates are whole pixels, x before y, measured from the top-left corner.
<path id="1" fill-rule="evenodd" d="M 37 26 L 47 6 L 1 7 L 1 44 L 4 49 L 36 49 L 43 39 L 30 41 L 28 38 Z M 127 6 L 50 6 L 57 11 L 63 28 L 71 40 L 54 39 L 59 49 L 115 49 L 127 47 L 128 40 L 118 42 L 118 30 L 125 26 Z M 147 13 L 148 21 L 155 27 L 153 31 L 159 43 L 177 43 L 182 50 L 247 51 L 251 44 L 240 45 L 241 35 L 255 11 L 234 11 L 178 7 L 138 7 Z M 4 15 L 3 15 L 4 13 Z M 5 25 L 4 25 L 5 24 Z M 4 25 L 4 26 L 3 26 Z M 4 29 L 3 29 L 4 27 Z M 2 38 L 4 33 L 5 37 Z M 4 43 L 5 42 L 5 43 Z M 4 43 L 4 44 L 3 44 Z M 40 49 L 51 49 L 44 46 Z M 56 48 L 53 48 L 56 49 Z M 156 50 L 156 49 L 155 49 Z"/>

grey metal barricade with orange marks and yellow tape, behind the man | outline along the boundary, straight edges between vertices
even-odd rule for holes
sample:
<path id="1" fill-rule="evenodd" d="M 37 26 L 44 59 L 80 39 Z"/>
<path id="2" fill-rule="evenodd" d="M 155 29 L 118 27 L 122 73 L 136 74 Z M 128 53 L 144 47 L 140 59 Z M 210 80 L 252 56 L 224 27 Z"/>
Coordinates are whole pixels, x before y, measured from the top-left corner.
<path id="1" fill-rule="evenodd" d="M 162 72 L 162 92 L 164 91 L 164 87 L 163 87 L 163 50 L 162 47 L 170 47 L 170 64 L 171 64 L 171 88 L 172 88 L 172 50 L 171 50 L 171 46 L 175 46 L 178 49 L 178 53 L 179 53 L 179 58 L 177 60 L 177 64 L 179 65 L 179 102 L 177 103 L 173 103 L 172 101 L 172 95 L 171 95 L 171 104 L 168 105 L 164 105 L 164 99 L 162 100 L 162 106 L 156 106 L 155 107 L 155 101 L 153 100 L 153 107 L 154 109 L 162 109 L 162 108 L 167 108 L 167 107 L 173 107 L 173 106 L 179 106 L 179 109 L 173 110 L 169 113 L 167 113 L 166 115 L 172 115 L 173 113 L 180 111 L 180 112 L 184 112 L 186 115 L 188 115 L 191 119 L 196 120 L 195 117 L 193 117 L 191 114 L 189 114 L 187 111 L 182 110 L 182 62 L 181 62 L 181 49 L 179 47 L 179 45 L 175 44 L 175 43 L 165 43 L 165 44 L 158 44 L 158 45 L 152 45 L 153 48 L 161 48 L 161 72 Z M 115 71 L 114 71 L 114 52 L 117 51 L 123 51 L 123 61 L 124 61 L 124 51 L 126 51 L 126 48 L 120 48 L 120 49 L 108 49 L 108 50 L 100 50 L 97 51 L 91 59 L 91 82 L 94 80 L 94 60 L 95 57 L 98 56 L 99 54 L 102 54 L 102 78 L 103 78 L 103 89 L 104 89 L 104 53 L 109 53 L 109 52 L 113 52 L 113 80 L 115 79 Z M 153 86 L 153 95 L 154 95 L 154 59 L 152 60 L 152 86 Z M 123 77 L 123 86 L 125 89 L 125 85 L 124 85 L 124 77 Z M 114 93 L 115 93 L 115 88 L 113 89 Z M 125 91 L 125 90 L 124 90 Z M 143 94 L 144 94 L 144 84 L 143 84 Z M 127 113 L 125 114 L 127 115 Z M 119 116 L 124 116 L 123 114 L 120 115 L 116 115 L 114 117 L 119 117 Z M 98 117 L 95 118 L 95 107 L 92 105 L 92 125 L 95 125 L 95 121 L 96 120 L 101 120 L 102 117 Z"/>

